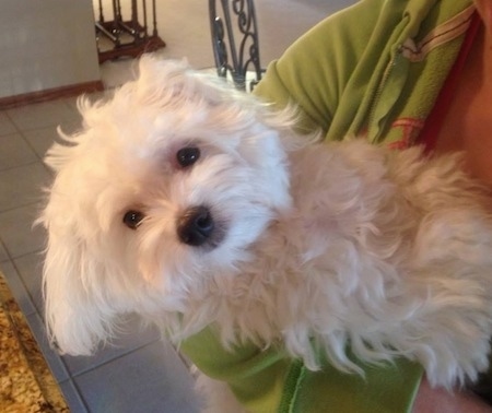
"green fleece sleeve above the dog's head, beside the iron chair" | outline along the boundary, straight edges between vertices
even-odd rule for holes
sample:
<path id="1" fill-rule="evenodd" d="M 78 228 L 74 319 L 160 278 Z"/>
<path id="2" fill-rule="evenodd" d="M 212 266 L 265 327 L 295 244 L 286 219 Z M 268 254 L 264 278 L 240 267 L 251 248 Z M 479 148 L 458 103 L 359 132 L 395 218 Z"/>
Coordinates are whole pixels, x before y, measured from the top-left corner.
<path id="1" fill-rule="evenodd" d="M 279 107 L 295 105 L 302 132 L 326 132 L 373 36 L 383 3 L 364 0 L 314 26 L 269 64 L 255 94 Z M 360 87 L 365 85 L 361 82 Z"/>

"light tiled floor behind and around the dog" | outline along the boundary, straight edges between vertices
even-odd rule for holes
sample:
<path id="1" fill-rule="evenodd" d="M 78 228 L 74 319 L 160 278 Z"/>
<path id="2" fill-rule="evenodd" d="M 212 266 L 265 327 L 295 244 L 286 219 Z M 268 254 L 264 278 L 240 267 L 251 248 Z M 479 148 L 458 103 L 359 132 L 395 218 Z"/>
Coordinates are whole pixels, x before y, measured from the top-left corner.
<path id="1" fill-rule="evenodd" d="M 257 13 L 262 31 L 260 46 L 266 51 L 263 62 L 277 57 L 291 42 L 290 38 L 295 38 L 326 14 L 352 2 L 258 2 Z M 195 24 L 190 21 L 207 20 L 202 12 L 189 14 L 195 10 L 190 7 L 191 0 L 166 0 L 166 3 L 163 12 L 188 13 L 188 27 L 208 30 L 208 21 Z M 159 8 L 161 5 L 157 4 Z M 196 31 L 185 33 L 179 32 L 181 27 L 175 28 L 175 34 L 169 33 L 173 30 L 169 21 L 164 30 L 160 30 L 168 44 L 169 57 L 177 57 L 181 47 L 183 56 L 187 52 L 202 55 L 187 56 L 191 63 L 196 63 L 194 66 L 211 66 L 213 59 L 208 33 L 200 35 Z M 285 36 L 286 32 L 290 37 Z M 199 46 L 197 49 L 197 40 L 203 42 L 203 36 L 207 36 L 207 47 Z M 163 52 L 164 57 L 166 52 Z M 128 68 L 125 62 L 109 62 L 105 69 L 105 75 L 110 78 L 113 84 L 118 83 L 116 78 L 125 79 L 119 66 Z M 58 125 L 71 132 L 77 130 L 80 120 L 74 98 L 0 110 L 0 268 L 73 413 L 197 412 L 198 402 L 191 396 L 192 380 L 186 367 L 155 331 L 140 331 L 137 320 L 129 321 L 129 333 L 119 338 L 115 347 L 106 347 L 94 357 L 60 357 L 47 345 L 40 317 L 40 266 L 45 234 L 42 228 L 33 228 L 32 225 L 42 204 L 42 188 L 50 181 L 50 172 L 42 162 L 44 153 L 56 139 Z"/>

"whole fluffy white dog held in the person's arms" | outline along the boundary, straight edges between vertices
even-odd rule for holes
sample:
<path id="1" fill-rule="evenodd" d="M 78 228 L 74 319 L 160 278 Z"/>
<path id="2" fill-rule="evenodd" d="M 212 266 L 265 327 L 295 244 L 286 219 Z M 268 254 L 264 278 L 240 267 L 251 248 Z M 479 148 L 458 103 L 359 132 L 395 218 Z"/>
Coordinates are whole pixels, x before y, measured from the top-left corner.
<path id="1" fill-rule="evenodd" d="M 175 342 L 214 323 L 224 345 L 279 340 L 408 357 L 450 388 L 488 368 L 492 219 L 459 156 L 297 138 L 213 75 L 144 57 L 108 102 L 82 101 L 40 217 L 46 317 L 62 352 L 90 354 L 118 315 Z"/>

